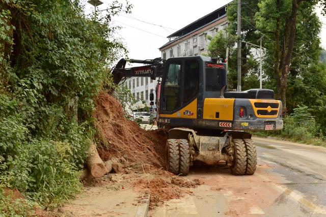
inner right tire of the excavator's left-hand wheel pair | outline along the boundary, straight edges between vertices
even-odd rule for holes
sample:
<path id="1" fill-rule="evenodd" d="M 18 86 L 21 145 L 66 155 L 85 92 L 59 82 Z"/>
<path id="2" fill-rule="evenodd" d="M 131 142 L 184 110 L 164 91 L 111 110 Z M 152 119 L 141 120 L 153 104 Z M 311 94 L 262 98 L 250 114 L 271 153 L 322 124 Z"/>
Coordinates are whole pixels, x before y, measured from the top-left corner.
<path id="1" fill-rule="evenodd" d="M 190 150 L 189 150 L 188 141 L 186 139 L 179 140 L 179 154 L 180 154 L 179 174 L 187 175 L 190 166 Z"/>

